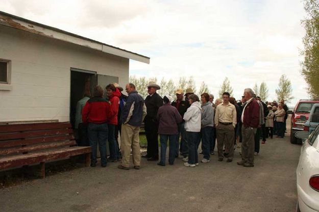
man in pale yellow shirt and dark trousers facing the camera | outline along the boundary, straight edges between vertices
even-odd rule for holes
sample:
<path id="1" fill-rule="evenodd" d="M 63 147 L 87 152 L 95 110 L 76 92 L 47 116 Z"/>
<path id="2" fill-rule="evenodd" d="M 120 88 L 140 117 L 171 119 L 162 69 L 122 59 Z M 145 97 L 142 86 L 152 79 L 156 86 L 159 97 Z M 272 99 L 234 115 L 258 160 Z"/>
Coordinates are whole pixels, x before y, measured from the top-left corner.
<path id="1" fill-rule="evenodd" d="M 229 93 L 223 93 L 223 103 L 219 104 L 215 112 L 215 126 L 217 133 L 218 161 L 223 161 L 223 146 L 228 150 L 227 163 L 234 157 L 234 128 L 237 123 L 236 108 L 229 102 Z"/>

